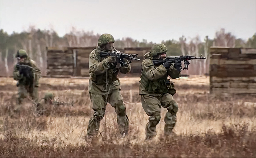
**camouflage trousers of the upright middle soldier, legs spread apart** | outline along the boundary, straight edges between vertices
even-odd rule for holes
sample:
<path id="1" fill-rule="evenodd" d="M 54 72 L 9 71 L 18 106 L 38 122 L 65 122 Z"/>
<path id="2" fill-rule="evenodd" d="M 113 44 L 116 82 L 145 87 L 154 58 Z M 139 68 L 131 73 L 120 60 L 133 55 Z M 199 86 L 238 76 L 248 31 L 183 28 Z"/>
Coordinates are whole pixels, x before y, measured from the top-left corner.
<path id="1" fill-rule="evenodd" d="M 100 121 L 105 115 L 106 105 L 109 104 L 115 108 L 117 114 L 117 124 L 119 126 L 120 133 L 128 133 L 129 130 L 129 120 L 126 115 L 126 107 L 123 103 L 123 97 L 120 90 L 110 91 L 107 95 L 91 94 L 90 98 L 93 103 L 94 114 L 89 120 L 89 125 L 87 128 L 87 135 L 96 135 L 100 128 Z"/>

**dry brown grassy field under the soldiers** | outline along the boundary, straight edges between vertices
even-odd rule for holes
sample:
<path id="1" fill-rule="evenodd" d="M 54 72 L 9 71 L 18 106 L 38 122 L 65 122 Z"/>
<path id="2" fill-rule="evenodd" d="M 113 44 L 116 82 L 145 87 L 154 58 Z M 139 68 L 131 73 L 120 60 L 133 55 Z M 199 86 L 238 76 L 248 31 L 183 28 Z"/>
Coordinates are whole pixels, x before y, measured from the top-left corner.
<path id="1" fill-rule="evenodd" d="M 41 78 L 40 98 L 53 92 L 58 100 L 75 104 L 44 105 L 40 117 L 29 99 L 16 105 L 15 80 L 0 78 L 0 157 L 256 157 L 255 96 L 211 95 L 206 76 L 173 79 L 177 135 L 163 137 L 162 108 L 157 136 L 145 141 L 148 116 L 138 95 L 140 78 L 120 80 L 129 135 L 119 137 L 116 113 L 108 104 L 100 134 L 89 141 L 84 137 L 93 114 L 88 78 Z"/>

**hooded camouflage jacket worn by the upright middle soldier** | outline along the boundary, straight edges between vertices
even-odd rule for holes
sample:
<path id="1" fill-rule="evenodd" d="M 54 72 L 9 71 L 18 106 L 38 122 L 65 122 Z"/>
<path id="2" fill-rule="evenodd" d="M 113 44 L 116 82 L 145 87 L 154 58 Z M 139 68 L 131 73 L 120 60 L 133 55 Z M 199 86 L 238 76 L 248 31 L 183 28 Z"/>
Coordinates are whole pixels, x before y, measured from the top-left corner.
<path id="1" fill-rule="evenodd" d="M 114 48 L 113 50 L 117 51 Z M 118 73 L 128 73 L 130 70 L 130 64 L 120 68 L 116 68 L 116 62 L 109 64 L 107 57 L 100 57 L 100 48 L 97 46 L 89 55 L 89 92 L 105 95 L 109 90 L 121 89 Z"/>

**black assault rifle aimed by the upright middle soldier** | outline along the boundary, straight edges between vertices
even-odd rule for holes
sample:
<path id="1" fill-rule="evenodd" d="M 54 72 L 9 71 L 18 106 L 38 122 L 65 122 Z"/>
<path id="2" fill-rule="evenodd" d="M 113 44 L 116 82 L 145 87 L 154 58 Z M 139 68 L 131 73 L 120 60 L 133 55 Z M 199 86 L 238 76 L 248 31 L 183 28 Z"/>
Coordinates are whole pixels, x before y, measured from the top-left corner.
<path id="1" fill-rule="evenodd" d="M 116 51 L 111 51 L 111 52 L 105 52 L 105 51 L 101 51 L 100 53 L 100 57 L 106 57 L 106 56 L 115 56 L 118 60 L 118 62 L 121 64 L 121 66 L 125 66 L 129 63 L 132 63 L 132 61 L 128 62 L 128 63 L 124 63 L 124 58 L 128 59 L 128 60 L 138 60 L 140 61 L 140 59 L 137 57 L 138 54 L 126 54 L 123 52 L 116 52 Z"/>

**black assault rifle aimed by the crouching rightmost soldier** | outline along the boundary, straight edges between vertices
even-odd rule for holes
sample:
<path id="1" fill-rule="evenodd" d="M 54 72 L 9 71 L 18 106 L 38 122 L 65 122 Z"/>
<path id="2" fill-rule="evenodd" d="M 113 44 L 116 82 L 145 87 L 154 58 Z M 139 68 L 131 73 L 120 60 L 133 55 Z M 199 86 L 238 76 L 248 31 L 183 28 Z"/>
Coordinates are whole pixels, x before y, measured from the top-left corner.
<path id="1" fill-rule="evenodd" d="M 188 70 L 188 65 L 190 64 L 189 61 L 190 60 L 197 60 L 197 59 L 206 59 L 206 57 L 203 57 L 202 54 L 200 57 L 196 57 L 196 56 L 190 56 L 190 55 L 186 55 L 186 56 L 168 56 L 165 58 L 165 60 L 163 59 L 153 59 L 152 61 L 154 62 L 154 65 L 161 65 L 163 64 L 165 61 L 168 61 L 169 63 L 176 63 L 176 62 L 181 62 L 184 61 L 184 65 L 185 67 L 183 68 Z M 182 67 L 175 67 L 178 72 L 180 72 L 182 70 Z"/>

